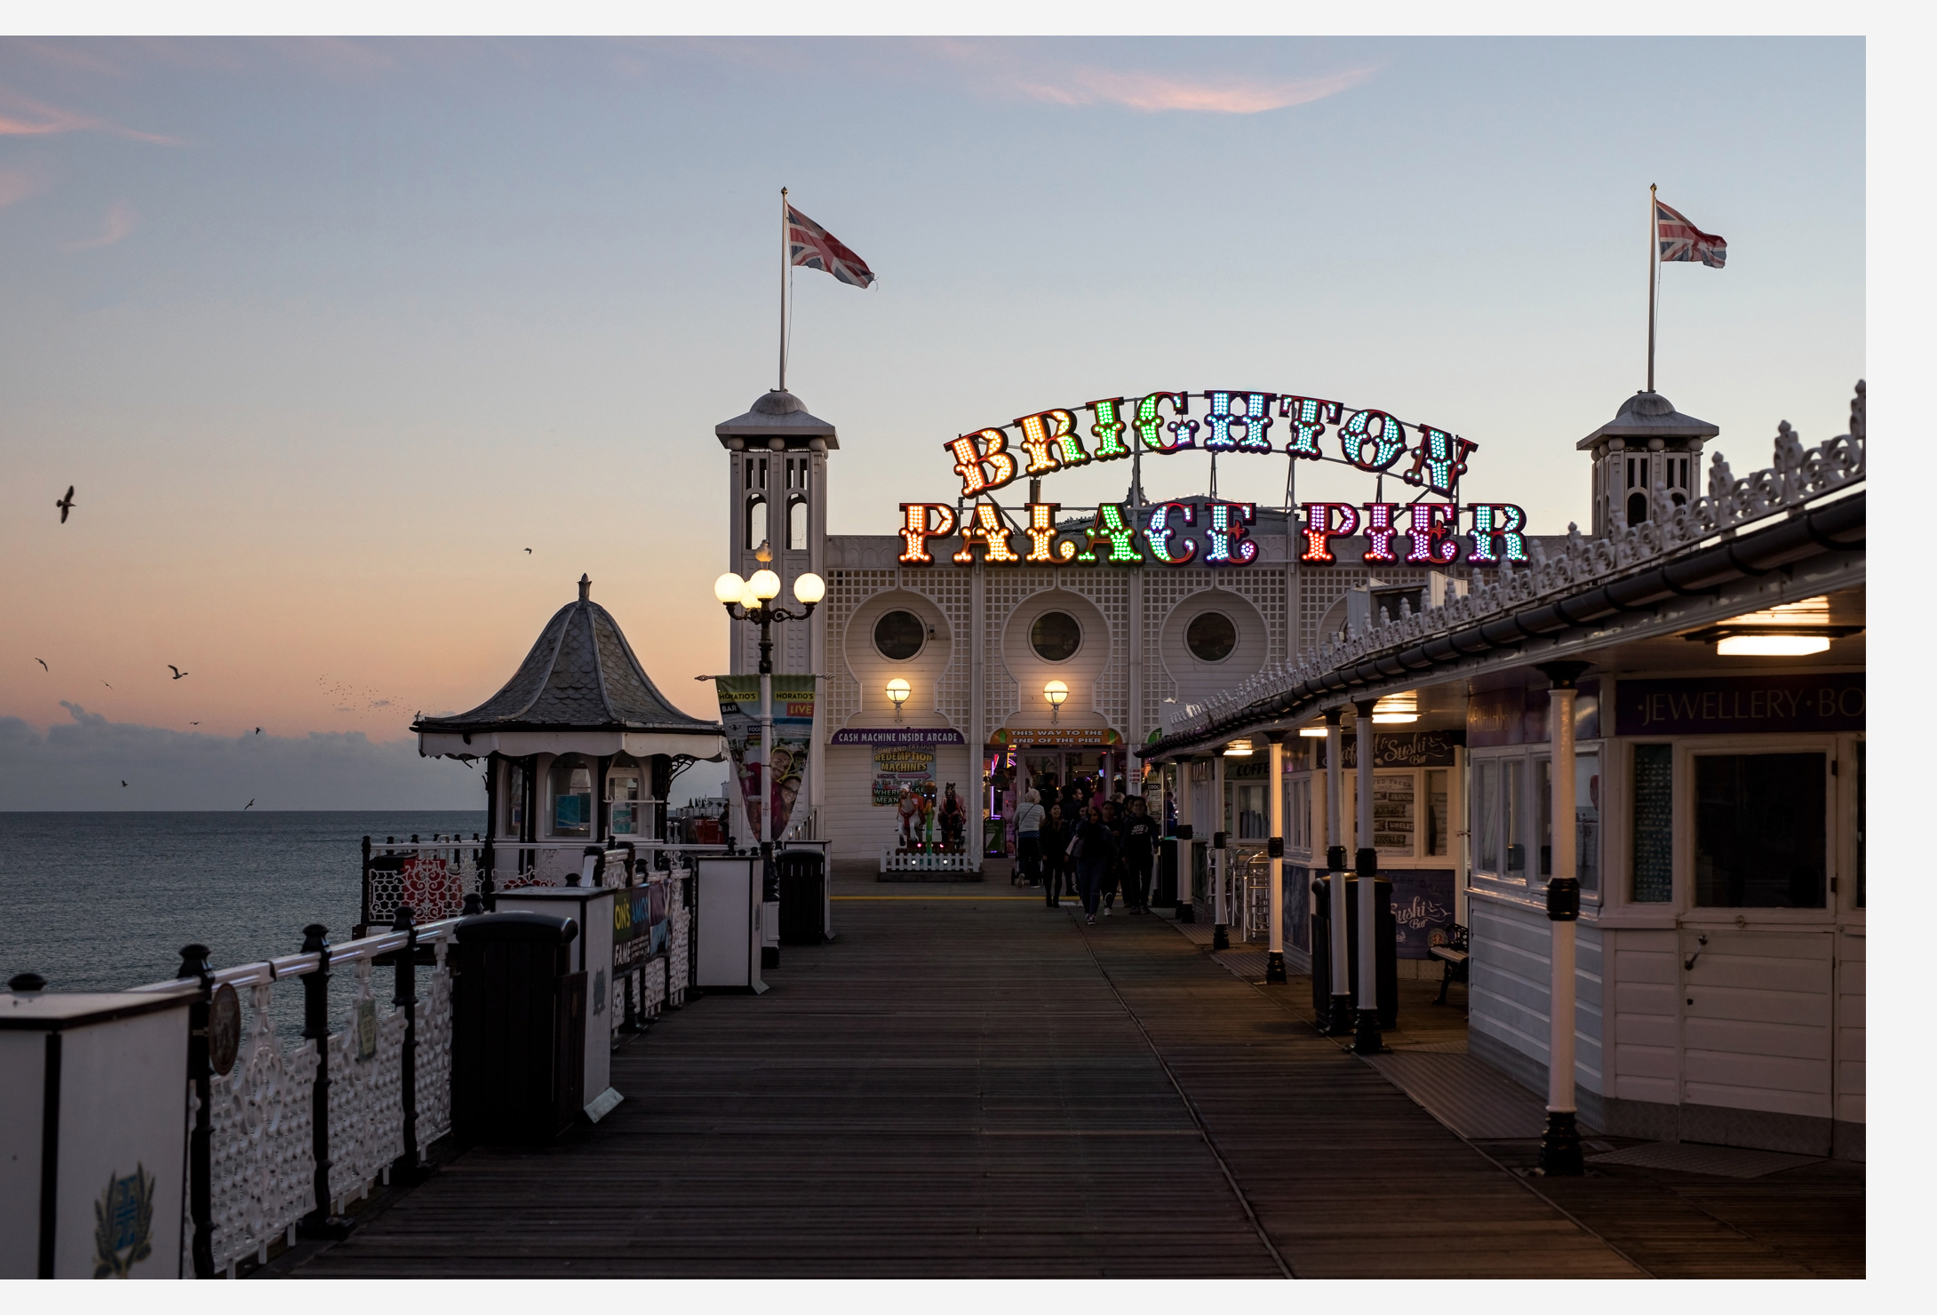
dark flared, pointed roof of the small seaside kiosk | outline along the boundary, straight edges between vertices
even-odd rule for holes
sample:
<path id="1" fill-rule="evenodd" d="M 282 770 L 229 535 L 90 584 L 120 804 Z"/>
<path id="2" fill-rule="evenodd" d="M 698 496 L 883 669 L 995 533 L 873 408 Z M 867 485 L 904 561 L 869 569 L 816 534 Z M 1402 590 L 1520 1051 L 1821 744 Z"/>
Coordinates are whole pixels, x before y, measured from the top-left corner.
<path id="1" fill-rule="evenodd" d="M 703 722 L 666 703 L 639 666 L 618 622 L 591 600 L 591 579 L 585 577 L 579 579 L 579 600 L 552 614 L 504 689 L 457 717 L 420 717 L 411 730 L 721 734 L 719 722 Z"/>

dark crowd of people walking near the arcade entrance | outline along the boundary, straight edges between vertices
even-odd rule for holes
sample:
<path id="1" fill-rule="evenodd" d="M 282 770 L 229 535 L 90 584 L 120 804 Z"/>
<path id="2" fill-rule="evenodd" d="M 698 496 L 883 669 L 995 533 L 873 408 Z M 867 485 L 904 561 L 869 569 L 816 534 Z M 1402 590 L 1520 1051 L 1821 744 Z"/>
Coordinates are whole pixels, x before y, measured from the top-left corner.
<path id="1" fill-rule="evenodd" d="M 1104 796 L 1085 779 L 1061 790 L 1054 782 L 1023 794 L 1015 811 L 1017 885 L 1042 885 L 1044 902 L 1061 906 L 1063 891 L 1083 901 L 1083 914 L 1108 918 L 1122 891 L 1131 914 L 1151 912 L 1151 866 L 1158 823 L 1141 798 Z"/>

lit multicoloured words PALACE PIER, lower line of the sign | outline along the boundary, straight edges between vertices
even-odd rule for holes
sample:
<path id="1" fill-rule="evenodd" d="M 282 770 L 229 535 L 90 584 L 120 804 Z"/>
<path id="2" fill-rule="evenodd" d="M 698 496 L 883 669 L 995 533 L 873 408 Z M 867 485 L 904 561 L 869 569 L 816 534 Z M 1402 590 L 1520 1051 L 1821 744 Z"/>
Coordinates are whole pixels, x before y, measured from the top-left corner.
<path id="1" fill-rule="evenodd" d="M 1201 509 L 1199 509 L 1201 505 Z M 994 504 L 976 502 L 957 511 L 949 502 L 901 504 L 901 564 L 934 566 L 939 552 L 949 562 L 968 566 L 1249 566 L 1257 560 L 1255 502 L 1153 502 L 1137 507 L 1106 502 L 1089 525 L 1058 525 L 1058 502 L 1023 504 L 1021 515 Z M 1472 529 L 1459 535 L 1459 515 L 1472 517 Z M 1300 562 L 1331 564 L 1335 538 L 1364 538 L 1360 562 L 1406 562 L 1412 566 L 1474 566 L 1526 562 L 1526 511 L 1511 502 L 1307 502 L 1294 531 L 1302 544 Z M 930 548 L 938 538 L 961 544 Z M 1460 554 L 1460 538 L 1466 552 Z"/>

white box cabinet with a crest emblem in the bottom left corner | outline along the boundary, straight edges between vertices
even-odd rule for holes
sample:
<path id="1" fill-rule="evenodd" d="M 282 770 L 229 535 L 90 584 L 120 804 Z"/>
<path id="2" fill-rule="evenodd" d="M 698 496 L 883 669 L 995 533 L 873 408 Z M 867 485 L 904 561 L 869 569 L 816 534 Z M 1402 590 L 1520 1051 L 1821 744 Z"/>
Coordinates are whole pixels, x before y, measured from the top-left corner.
<path id="1" fill-rule="evenodd" d="M 194 992 L 0 994 L 0 1278 L 180 1278 Z"/>

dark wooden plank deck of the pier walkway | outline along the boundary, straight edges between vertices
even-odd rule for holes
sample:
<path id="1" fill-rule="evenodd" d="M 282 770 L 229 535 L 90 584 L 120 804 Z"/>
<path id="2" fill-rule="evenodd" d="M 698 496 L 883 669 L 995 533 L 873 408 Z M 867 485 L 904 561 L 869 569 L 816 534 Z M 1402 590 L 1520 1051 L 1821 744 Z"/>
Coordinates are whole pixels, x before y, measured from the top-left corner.
<path id="1" fill-rule="evenodd" d="M 1794 1274 L 1825 1270 L 1757 1228 L 1854 1216 L 1861 1272 L 1860 1168 L 1794 1208 L 1772 1179 L 1666 1176 L 1691 1197 L 1645 1170 L 1552 1191 L 1503 1168 L 1526 1147 L 1462 1141 L 1315 1036 L 1300 984 L 1245 982 L 1162 918 L 1083 928 L 1007 881 L 839 889 L 862 895 L 841 937 L 786 949 L 767 995 L 618 1052 L 626 1102 L 597 1129 L 471 1150 L 273 1269 L 1584 1278 L 1720 1249 L 1712 1272 Z M 1730 1193 L 1736 1222 L 1710 1208 Z"/>

